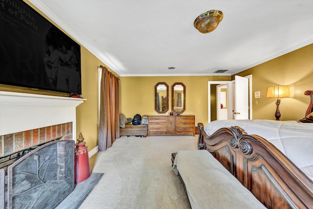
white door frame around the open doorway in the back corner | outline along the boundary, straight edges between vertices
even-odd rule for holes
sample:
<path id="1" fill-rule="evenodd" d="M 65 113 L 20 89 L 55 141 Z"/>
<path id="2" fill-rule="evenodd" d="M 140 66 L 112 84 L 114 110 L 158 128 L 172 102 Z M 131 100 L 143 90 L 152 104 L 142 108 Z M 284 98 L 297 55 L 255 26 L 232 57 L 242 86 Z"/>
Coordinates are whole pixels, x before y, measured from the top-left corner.
<path id="1" fill-rule="evenodd" d="M 252 75 L 244 76 L 245 78 L 249 78 L 249 119 L 252 119 Z M 208 95 L 208 123 L 211 122 L 211 84 L 227 84 L 227 100 L 229 108 L 227 109 L 227 117 L 232 118 L 232 110 L 233 110 L 233 83 L 232 81 L 208 81 L 207 95 Z M 218 95 L 217 95 L 218 96 Z M 217 108 L 217 107 L 216 107 Z"/>

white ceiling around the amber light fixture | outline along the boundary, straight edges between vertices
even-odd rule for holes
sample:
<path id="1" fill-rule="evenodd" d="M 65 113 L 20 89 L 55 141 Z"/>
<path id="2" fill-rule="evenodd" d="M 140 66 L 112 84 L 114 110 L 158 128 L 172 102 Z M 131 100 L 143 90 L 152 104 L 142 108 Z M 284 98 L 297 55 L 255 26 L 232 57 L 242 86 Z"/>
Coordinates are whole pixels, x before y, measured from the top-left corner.
<path id="1" fill-rule="evenodd" d="M 313 43 L 313 0 L 29 1 L 120 76 L 232 75 Z"/>

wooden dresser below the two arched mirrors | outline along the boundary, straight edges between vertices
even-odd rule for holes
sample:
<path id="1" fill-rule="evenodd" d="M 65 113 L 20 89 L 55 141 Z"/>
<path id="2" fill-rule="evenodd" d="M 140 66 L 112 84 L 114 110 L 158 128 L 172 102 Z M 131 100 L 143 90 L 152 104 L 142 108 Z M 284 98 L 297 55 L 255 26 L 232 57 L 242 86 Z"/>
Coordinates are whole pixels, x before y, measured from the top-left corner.
<path id="1" fill-rule="evenodd" d="M 195 136 L 195 116 L 148 116 L 148 134 L 152 135 L 189 135 Z"/>

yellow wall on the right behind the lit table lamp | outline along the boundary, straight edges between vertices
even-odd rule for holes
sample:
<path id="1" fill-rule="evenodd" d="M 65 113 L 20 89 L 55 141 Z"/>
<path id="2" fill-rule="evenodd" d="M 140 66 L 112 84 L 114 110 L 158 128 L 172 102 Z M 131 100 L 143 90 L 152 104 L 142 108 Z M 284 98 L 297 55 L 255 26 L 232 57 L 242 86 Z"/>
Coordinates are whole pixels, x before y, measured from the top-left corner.
<path id="1" fill-rule="evenodd" d="M 253 119 L 275 119 L 275 98 L 266 98 L 267 88 L 290 86 L 291 97 L 282 98 L 279 106 L 281 120 L 299 120 L 309 105 L 307 90 L 313 90 L 313 44 L 302 47 L 266 63 L 245 70 L 237 75 L 252 74 L 252 91 L 261 92 L 261 98 L 253 96 Z M 258 104 L 256 104 L 256 101 Z"/>

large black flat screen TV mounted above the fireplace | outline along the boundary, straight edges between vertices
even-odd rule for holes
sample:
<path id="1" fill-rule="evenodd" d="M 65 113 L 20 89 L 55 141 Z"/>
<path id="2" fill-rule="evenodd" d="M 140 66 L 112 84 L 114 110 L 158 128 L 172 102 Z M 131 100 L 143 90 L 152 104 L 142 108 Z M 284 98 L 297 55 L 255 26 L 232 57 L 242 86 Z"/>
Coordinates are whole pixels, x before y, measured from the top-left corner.
<path id="1" fill-rule="evenodd" d="M 0 83 L 81 94 L 80 45 L 22 0 L 0 2 Z"/>

